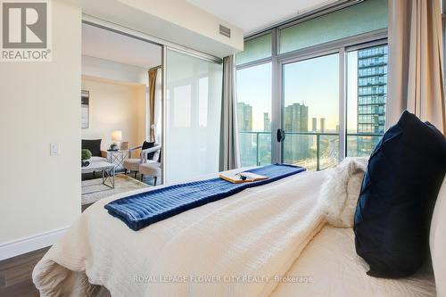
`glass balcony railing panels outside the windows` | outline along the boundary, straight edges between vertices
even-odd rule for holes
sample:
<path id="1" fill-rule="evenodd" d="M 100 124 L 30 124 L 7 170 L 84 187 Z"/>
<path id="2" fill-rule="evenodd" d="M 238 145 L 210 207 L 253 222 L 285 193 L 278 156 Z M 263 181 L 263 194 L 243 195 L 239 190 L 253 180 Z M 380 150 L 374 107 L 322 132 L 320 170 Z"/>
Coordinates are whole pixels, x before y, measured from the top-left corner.
<path id="1" fill-rule="evenodd" d="M 382 134 L 348 133 L 347 156 L 368 156 Z M 242 166 L 260 166 L 271 163 L 270 132 L 239 132 Z M 308 170 L 334 167 L 339 161 L 339 134 L 319 132 L 286 132 L 282 144 L 284 163 L 295 164 Z"/>

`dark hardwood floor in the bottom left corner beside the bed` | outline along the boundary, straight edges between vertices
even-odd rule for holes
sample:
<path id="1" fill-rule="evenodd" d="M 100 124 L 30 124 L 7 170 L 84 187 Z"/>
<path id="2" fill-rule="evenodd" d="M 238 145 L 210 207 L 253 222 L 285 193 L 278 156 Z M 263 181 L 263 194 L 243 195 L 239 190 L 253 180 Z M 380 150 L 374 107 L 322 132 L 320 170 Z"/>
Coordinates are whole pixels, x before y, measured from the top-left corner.
<path id="1" fill-rule="evenodd" d="M 0 261 L 0 296 L 34 297 L 39 293 L 32 283 L 32 269 L 49 247 Z"/>

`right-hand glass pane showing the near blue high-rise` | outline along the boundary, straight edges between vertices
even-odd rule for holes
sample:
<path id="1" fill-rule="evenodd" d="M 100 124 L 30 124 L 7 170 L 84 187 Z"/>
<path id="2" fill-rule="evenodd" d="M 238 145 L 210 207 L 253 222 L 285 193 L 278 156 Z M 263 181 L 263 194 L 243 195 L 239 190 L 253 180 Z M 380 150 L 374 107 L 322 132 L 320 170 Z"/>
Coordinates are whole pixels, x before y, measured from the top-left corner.
<path id="1" fill-rule="evenodd" d="M 387 45 L 347 54 L 347 156 L 368 156 L 384 134 Z"/>

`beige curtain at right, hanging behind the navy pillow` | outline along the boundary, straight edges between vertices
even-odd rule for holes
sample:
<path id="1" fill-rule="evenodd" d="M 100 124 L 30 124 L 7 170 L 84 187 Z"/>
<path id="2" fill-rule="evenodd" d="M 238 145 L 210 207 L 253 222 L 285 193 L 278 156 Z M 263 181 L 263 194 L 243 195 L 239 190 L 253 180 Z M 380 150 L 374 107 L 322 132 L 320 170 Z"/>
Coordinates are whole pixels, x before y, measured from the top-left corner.
<path id="1" fill-rule="evenodd" d="M 446 131 L 437 0 L 389 0 L 387 128 L 406 109 Z"/>

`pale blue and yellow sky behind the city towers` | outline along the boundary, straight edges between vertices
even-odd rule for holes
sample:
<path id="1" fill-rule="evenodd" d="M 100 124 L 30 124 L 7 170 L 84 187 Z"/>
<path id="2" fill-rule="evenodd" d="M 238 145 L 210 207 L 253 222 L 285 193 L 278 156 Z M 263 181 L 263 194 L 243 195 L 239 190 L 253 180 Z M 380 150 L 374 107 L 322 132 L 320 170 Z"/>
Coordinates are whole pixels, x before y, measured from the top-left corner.
<path id="1" fill-rule="evenodd" d="M 357 52 L 348 54 L 347 100 L 348 127 L 356 130 Z M 252 105 L 252 129 L 263 130 L 263 113 L 271 119 L 271 63 L 237 70 L 237 102 Z M 326 118 L 326 129 L 339 124 L 339 57 L 330 54 L 284 66 L 285 106 L 305 103 L 312 118 Z"/>

